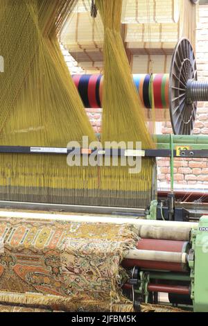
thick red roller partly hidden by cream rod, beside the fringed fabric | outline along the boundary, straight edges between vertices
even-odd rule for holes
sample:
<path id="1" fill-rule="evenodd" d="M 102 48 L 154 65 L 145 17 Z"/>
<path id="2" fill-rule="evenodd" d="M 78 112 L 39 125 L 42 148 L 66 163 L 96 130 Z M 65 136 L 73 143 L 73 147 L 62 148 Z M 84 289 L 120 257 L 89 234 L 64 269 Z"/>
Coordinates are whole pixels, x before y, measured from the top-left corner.
<path id="1" fill-rule="evenodd" d="M 170 241 L 170 240 L 155 240 L 155 239 L 141 239 L 137 243 L 137 249 L 140 250 L 155 250 L 165 252 L 187 252 L 189 243 L 184 241 Z M 162 271 L 187 271 L 186 264 L 171 263 L 166 261 L 150 261 L 139 259 L 124 259 L 123 266 L 133 267 L 139 266 L 141 268 L 162 270 Z"/>

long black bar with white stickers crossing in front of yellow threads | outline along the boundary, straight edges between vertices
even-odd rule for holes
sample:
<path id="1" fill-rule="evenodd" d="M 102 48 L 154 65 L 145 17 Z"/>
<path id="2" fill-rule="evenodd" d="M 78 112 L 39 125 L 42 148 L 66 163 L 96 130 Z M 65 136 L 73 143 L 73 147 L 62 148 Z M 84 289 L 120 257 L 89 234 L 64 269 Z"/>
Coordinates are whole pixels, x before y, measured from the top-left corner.
<path id="1" fill-rule="evenodd" d="M 89 149 L 89 153 L 82 148 L 64 148 L 64 147 L 30 147 L 30 146 L 0 146 L 0 153 L 18 153 L 18 154 L 51 154 L 51 155 L 68 155 L 73 151 L 74 155 L 80 155 L 80 151 L 84 151 L 81 155 L 106 155 L 106 156 L 132 156 L 136 155 L 125 155 L 125 149 L 122 148 L 107 148 L 107 149 Z M 143 156 L 143 155 L 141 155 Z M 171 157 L 171 150 L 169 149 L 146 149 L 144 150 L 145 157 Z M 180 155 L 173 151 L 174 157 L 207 157 L 208 150 L 196 150 L 196 151 L 180 151 Z"/>

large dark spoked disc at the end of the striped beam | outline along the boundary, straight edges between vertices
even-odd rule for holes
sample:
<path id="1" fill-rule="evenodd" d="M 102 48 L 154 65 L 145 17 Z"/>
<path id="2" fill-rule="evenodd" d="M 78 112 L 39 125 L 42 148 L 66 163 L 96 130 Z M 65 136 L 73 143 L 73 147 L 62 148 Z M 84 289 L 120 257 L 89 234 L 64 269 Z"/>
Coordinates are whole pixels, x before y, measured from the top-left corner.
<path id="1" fill-rule="evenodd" d="M 187 82 L 197 80 L 196 58 L 186 37 L 175 46 L 170 69 L 170 117 L 175 135 L 190 135 L 196 119 L 197 102 L 187 101 Z"/>

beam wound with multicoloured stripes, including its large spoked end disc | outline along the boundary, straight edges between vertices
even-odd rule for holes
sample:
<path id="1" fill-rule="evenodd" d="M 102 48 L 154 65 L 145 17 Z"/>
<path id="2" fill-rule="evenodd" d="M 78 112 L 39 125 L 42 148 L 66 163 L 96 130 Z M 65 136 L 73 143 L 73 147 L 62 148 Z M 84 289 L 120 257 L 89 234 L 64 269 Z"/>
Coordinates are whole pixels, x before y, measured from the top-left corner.
<path id="1" fill-rule="evenodd" d="M 197 80 L 196 58 L 187 38 L 175 46 L 170 74 L 134 75 L 135 86 L 144 108 L 152 108 L 151 81 L 156 109 L 170 110 L 175 135 L 190 135 L 198 101 L 208 101 L 208 83 Z M 103 76 L 73 75 L 86 108 L 101 108 Z"/>

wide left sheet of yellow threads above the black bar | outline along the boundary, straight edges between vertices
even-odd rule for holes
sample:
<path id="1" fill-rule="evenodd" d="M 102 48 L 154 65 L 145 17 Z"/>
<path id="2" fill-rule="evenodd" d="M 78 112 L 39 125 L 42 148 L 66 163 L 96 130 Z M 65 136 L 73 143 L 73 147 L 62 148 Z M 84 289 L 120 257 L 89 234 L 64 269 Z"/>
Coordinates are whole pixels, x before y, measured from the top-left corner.
<path id="1" fill-rule="evenodd" d="M 57 39 L 60 13 L 74 1 L 1 2 L 1 145 L 66 147 L 83 135 L 96 140 Z"/>

